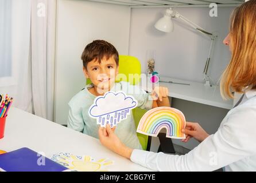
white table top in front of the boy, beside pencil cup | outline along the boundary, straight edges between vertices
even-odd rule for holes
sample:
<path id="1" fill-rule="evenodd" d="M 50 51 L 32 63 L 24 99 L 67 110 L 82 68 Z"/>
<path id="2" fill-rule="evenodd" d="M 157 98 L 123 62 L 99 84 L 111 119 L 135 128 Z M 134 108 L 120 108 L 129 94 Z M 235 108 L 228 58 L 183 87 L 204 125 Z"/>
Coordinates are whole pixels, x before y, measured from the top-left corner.
<path id="1" fill-rule="evenodd" d="M 109 158 L 114 161 L 113 165 L 107 167 L 110 171 L 151 171 L 104 148 L 96 138 L 11 108 L 6 119 L 5 137 L 0 140 L 0 149 L 9 152 L 23 147 L 44 152 L 46 157 L 69 152 L 95 159 Z"/>

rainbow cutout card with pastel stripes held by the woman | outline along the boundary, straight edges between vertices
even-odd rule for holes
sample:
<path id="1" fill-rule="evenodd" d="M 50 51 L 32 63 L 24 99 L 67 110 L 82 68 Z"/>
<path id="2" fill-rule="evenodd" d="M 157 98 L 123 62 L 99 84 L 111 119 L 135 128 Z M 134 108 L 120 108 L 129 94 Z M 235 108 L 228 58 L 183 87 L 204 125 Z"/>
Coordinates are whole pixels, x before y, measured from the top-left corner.
<path id="1" fill-rule="evenodd" d="M 166 128 L 166 137 L 185 139 L 185 134 L 181 132 L 185 126 L 185 116 L 180 110 L 159 107 L 149 110 L 142 116 L 137 132 L 157 137 L 160 130 Z"/>

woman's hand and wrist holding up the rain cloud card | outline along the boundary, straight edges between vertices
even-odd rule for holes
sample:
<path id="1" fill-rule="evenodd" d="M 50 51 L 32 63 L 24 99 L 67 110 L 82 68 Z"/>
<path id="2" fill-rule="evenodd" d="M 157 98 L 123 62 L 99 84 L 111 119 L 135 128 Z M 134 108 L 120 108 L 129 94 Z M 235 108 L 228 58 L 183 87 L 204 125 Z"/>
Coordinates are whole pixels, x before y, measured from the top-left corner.
<path id="1" fill-rule="evenodd" d="M 115 128 L 111 129 L 109 124 L 106 125 L 106 128 L 99 128 L 100 142 L 113 152 L 130 159 L 133 149 L 125 146 L 115 135 L 114 131 Z"/>

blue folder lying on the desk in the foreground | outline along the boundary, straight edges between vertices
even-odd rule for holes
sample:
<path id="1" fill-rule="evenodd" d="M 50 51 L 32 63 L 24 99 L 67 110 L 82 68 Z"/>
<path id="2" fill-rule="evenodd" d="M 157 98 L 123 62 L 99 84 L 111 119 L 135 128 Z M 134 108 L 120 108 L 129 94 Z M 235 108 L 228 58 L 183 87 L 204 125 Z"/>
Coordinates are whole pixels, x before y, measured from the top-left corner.
<path id="1" fill-rule="evenodd" d="M 42 161 L 42 157 L 45 161 Z M 42 162 L 45 164 L 40 165 Z M 6 172 L 63 172 L 68 168 L 31 149 L 21 148 L 0 154 L 0 169 Z"/>

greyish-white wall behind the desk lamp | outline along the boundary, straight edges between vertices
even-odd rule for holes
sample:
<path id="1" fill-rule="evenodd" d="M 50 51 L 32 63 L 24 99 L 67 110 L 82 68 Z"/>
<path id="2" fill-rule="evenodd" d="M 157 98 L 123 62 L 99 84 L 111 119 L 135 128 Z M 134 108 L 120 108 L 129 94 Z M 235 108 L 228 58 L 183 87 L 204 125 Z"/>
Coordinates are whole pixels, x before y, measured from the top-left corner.
<path id="1" fill-rule="evenodd" d="M 205 30 L 218 34 L 209 69 L 210 77 L 217 82 L 230 60 L 228 47 L 222 41 L 228 33 L 230 13 L 234 7 L 218 7 L 218 17 L 210 17 L 208 7 L 177 7 L 184 17 Z M 146 71 L 146 53 L 156 51 L 156 70 L 161 75 L 203 82 L 203 69 L 210 48 L 210 38 L 190 29 L 180 19 L 174 19 L 173 33 L 154 28 L 166 8 L 131 9 L 129 54 L 142 62 Z M 179 68 L 179 69 L 177 69 Z"/>

